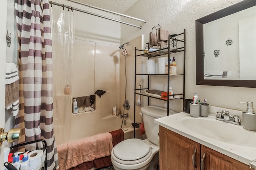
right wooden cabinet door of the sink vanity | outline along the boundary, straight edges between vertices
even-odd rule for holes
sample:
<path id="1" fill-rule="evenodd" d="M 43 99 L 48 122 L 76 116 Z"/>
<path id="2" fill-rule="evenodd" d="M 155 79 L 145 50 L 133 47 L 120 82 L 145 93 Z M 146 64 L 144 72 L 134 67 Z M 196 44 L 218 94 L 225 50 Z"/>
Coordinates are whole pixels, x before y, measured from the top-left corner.
<path id="1" fill-rule="evenodd" d="M 201 158 L 203 153 L 203 170 L 250 170 L 249 165 L 201 145 Z"/>

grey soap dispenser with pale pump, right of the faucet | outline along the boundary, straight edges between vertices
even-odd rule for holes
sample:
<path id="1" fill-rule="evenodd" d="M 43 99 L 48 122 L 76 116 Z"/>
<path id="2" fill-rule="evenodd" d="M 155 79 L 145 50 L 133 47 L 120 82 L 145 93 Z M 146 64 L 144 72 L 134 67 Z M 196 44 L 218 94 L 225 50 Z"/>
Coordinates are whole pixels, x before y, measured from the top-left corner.
<path id="1" fill-rule="evenodd" d="M 256 113 L 253 109 L 253 103 L 240 102 L 240 104 L 247 104 L 247 110 L 242 113 L 244 129 L 256 131 Z"/>

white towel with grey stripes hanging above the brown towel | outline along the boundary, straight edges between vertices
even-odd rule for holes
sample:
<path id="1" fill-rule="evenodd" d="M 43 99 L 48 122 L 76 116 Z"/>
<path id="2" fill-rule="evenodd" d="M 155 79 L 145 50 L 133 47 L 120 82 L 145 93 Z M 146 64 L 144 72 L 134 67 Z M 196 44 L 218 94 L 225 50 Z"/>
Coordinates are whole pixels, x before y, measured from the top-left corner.
<path id="1" fill-rule="evenodd" d="M 19 79 L 18 66 L 14 63 L 5 64 L 5 84 L 12 84 Z"/>

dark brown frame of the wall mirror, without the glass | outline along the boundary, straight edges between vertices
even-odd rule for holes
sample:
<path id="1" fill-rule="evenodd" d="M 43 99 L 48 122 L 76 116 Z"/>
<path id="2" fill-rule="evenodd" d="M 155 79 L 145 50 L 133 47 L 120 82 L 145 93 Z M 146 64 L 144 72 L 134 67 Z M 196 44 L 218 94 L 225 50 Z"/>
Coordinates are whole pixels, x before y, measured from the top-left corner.
<path id="1" fill-rule="evenodd" d="M 244 0 L 196 20 L 196 84 L 256 88 L 256 80 L 205 80 L 204 79 L 204 24 L 256 6 L 256 0 Z"/>

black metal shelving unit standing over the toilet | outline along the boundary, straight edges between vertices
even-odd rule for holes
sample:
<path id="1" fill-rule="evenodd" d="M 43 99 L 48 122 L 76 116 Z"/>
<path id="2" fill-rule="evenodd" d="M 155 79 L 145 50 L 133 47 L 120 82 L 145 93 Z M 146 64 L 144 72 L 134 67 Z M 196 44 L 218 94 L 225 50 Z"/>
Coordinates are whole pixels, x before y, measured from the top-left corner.
<path id="1" fill-rule="evenodd" d="M 176 39 L 175 37 L 181 37 L 183 35 L 183 39 Z M 172 49 L 171 48 L 171 43 L 175 43 L 175 42 L 180 42 L 180 43 L 183 43 L 183 46 L 182 47 L 178 47 L 178 48 L 175 48 L 175 49 Z M 163 48 L 163 49 L 159 49 L 159 50 L 156 50 L 156 51 L 153 51 L 153 52 L 149 52 L 149 53 L 143 53 L 143 54 L 138 54 L 138 52 L 142 52 L 143 50 L 141 49 L 137 49 L 135 47 L 135 76 L 134 76 L 134 106 L 136 106 L 136 94 L 137 95 L 142 95 L 142 96 L 146 96 L 148 97 L 148 105 L 149 105 L 149 98 L 155 98 L 155 99 L 158 99 L 158 100 L 164 100 L 167 102 L 167 115 L 169 115 L 169 102 L 171 100 L 177 100 L 175 98 L 169 98 L 169 87 L 170 87 L 170 78 L 172 76 L 183 76 L 183 93 L 180 93 L 180 94 L 172 94 L 171 96 L 175 96 L 175 95 L 180 95 L 182 96 L 181 99 L 184 100 L 185 98 L 185 58 L 186 58 L 186 29 L 184 29 L 184 32 L 176 35 L 176 36 L 173 36 L 173 35 L 169 35 L 169 41 L 168 41 L 168 47 L 166 48 Z M 141 74 L 141 73 L 137 73 L 136 71 L 136 60 L 138 57 L 148 57 L 148 59 L 152 58 L 152 57 L 160 57 L 160 56 L 163 56 L 163 55 L 168 55 L 168 61 L 170 61 L 170 57 L 173 55 L 173 54 L 176 54 L 176 53 L 182 53 L 183 52 L 183 73 L 178 73 L 178 74 L 170 74 L 170 70 L 168 69 L 168 73 L 166 74 Z M 168 62 L 168 68 L 170 67 L 170 63 Z M 148 86 L 147 88 L 136 88 L 136 76 L 148 76 Z M 167 76 L 167 86 L 168 86 L 168 90 L 167 90 L 167 100 L 165 99 L 162 99 L 160 97 L 157 97 L 157 96 L 152 96 L 152 95 L 149 95 L 149 94 L 146 94 L 145 92 L 141 92 L 141 93 L 138 93 L 138 90 L 149 90 L 150 89 L 150 76 Z M 183 102 L 184 103 L 184 102 Z M 183 104 L 182 104 L 183 105 Z M 183 110 L 183 109 L 182 109 Z M 136 114 L 136 107 L 134 107 L 134 122 L 136 122 L 136 119 L 135 119 L 135 114 Z M 135 138 L 135 127 L 134 127 L 134 138 Z"/>

